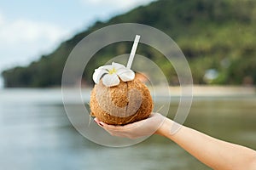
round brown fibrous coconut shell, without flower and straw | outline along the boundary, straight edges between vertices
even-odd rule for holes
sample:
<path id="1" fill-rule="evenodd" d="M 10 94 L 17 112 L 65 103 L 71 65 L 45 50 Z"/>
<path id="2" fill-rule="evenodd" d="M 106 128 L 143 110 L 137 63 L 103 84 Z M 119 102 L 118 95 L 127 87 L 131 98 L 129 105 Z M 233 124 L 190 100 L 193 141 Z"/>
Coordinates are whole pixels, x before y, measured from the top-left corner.
<path id="1" fill-rule="evenodd" d="M 111 125 L 125 125 L 148 118 L 153 101 L 146 85 L 138 79 L 120 81 L 118 86 L 96 84 L 90 94 L 91 116 Z"/>

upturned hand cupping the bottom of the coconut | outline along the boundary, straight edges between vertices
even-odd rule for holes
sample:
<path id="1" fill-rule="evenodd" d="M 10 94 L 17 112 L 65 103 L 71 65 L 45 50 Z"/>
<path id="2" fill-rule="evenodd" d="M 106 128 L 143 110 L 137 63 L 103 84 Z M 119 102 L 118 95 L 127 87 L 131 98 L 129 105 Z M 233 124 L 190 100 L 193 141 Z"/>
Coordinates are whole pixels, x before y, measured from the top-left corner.
<path id="1" fill-rule="evenodd" d="M 125 126 L 113 126 L 101 122 L 98 118 L 94 121 L 104 128 L 108 133 L 113 136 L 125 137 L 129 139 L 137 139 L 143 136 L 149 136 L 158 133 L 159 127 L 165 122 L 166 117 L 160 113 L 152 113 L 147 119 L 139 122 L 133 122 Z"/>

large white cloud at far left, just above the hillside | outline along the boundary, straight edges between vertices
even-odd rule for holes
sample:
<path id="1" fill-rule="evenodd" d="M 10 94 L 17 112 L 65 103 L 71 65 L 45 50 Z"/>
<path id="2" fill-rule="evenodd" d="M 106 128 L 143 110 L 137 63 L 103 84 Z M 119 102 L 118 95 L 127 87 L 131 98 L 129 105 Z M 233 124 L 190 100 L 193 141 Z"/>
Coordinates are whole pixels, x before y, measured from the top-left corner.
<path id="1" fill-rule="evenodd" d="M 70 31 L 54 24 L 24 19 L 9 22 L 0 13 L 0 73 L 51 52 L 69 35 Z M 0 88 L 1 84 L 0 80 Z"/>

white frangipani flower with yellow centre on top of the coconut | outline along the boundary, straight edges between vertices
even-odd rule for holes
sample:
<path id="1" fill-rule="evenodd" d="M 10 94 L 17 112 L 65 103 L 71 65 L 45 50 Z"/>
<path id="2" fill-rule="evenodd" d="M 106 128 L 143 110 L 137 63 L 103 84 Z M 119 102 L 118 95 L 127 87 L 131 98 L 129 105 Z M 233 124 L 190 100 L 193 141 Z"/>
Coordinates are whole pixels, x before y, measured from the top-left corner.
<path id="1" fill-rule="evenodd" d="M 102 78 L 102 83 L 107 87 L 119 85 L 119 78 L 123 82 L 133 80 L 135 73 L 131 69 L 127 69 L 125 65 L 119 63 L 112 63 L 112 65 L 100 66 L 93 73 L 93 81 L 98 84 Z"/>

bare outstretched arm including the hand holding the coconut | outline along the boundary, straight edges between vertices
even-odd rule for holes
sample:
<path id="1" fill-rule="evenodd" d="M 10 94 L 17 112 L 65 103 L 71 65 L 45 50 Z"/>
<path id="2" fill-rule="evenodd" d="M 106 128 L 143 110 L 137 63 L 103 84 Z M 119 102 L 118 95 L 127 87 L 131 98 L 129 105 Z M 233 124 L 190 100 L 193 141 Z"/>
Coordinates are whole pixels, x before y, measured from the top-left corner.
<path id="1" fill-rule="evenodd" d="M 154 133 L 172 139 L 187 150 L 192 156 L 203 162 L 213 169 L 247 169 L 256 170 L 256 151 L 248 149 L 238 144 L 214 139 L 204 133 L 195 131 L 189 127 L 181 127 L 175 134 L 171 134 L 173 121 L 155 113 L 147 120 L 131 123 L 125 126 L 112 126 L 100 122 L 97 118 L 95 121 L 101 125 L 108 133 L 114 136 L 126 138 L 139 138 Z M 148 130 L 149 129 L 149 130 Z"/>

